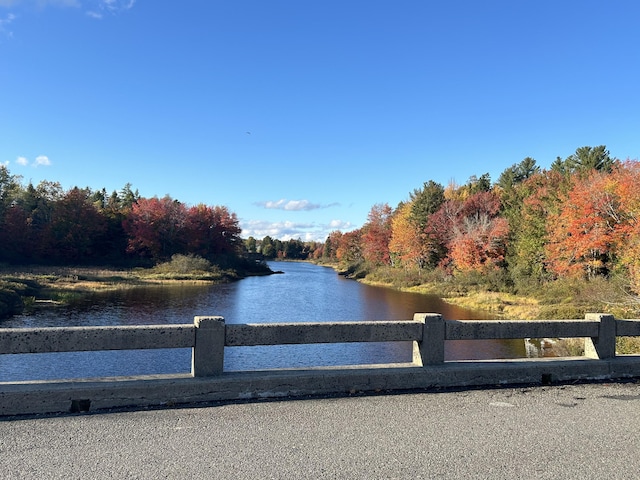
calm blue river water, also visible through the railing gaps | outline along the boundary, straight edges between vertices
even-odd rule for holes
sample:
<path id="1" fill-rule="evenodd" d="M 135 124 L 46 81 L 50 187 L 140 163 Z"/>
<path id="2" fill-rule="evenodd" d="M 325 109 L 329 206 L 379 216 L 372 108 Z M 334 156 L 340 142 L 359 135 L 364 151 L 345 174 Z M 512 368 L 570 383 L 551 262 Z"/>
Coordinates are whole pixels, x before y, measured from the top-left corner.
<path id="1" fill-rule="evenodd" d="M 276 262 L 282 275 L 251 277 L 228 285 L 156 286 L 95 294 L 64 308 L 40 310 L 0 323 L 7 327 L 192 323 L 196 315 L 221 315 L 227 323 L 411 320 L 416 312 L 448 319 L 489 319 L 438 297 L 396 292 L 340 277 L 333 269 Z M 525 356 L 522 341 L 451 341 L 449 360 Z M 408 362 L 411 344 L 363 343 L 233 347 L 226 370 Z M 0 355 L 0 381 L 186 373 L 190 349 Z"/>

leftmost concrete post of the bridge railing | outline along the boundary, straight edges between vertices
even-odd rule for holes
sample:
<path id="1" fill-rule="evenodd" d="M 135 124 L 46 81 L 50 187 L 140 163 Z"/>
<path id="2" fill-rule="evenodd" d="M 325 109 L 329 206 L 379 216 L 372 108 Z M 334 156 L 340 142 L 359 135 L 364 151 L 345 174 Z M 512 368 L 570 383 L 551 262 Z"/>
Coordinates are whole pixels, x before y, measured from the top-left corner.
<path id="1" fill-rule="evenodd" d="M 196 341 L 191 354 L 191 375 L 211 377 L 224 368 L 223 317 L 195 317 Z"/>

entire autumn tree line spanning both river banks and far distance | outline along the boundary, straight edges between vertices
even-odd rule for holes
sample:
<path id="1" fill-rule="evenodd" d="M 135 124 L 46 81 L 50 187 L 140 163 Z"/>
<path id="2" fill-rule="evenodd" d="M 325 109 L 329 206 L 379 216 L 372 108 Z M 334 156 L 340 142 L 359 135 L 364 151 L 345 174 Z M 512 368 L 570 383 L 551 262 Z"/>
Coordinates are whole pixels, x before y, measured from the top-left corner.
<path id="1" fill-rule="evenodd" d="M 105 189 L 23 185 L 0 165 L 0 262 L 152 264 L 175 254 L 339 262 L 422 278 L 476 276 L 501 287 L 561 278 L 623 277 L 640 294 L 640 163 L 581 147 L 541 169 L 532 158 L 464 185 L 433 180 L 395 208 L 371 207 L 364 225 L 321 242 L 241 238 L 223 206 Z M 254 258 L 253 255 L 249 255 Z"/>

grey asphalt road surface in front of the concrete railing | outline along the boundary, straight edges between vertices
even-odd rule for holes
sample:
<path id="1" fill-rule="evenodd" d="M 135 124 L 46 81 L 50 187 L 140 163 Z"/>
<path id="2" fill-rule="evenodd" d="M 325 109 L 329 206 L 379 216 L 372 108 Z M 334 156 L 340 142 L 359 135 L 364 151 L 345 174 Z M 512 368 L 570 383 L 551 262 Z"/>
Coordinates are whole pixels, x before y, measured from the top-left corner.
<path id="1" fill-rule="evenodd" d="M 3 479 L 638 479 L 640 383 L 0 418 Z"/>

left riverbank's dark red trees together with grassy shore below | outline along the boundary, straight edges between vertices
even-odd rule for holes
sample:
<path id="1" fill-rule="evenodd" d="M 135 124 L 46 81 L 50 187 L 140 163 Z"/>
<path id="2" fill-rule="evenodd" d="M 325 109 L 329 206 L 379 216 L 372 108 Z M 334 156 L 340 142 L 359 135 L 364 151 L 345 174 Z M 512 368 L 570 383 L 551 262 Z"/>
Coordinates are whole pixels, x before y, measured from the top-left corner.
<path id="1" fill-rule="evenodd" d="M 24 185 L 0 165 L 0 318 L 48 297 L 154 281 L 227 282 L 272 273 L 249 255 L 236 215 L 42 181 Z M 99 273 L 96 273 L 99 272 Z"/>

